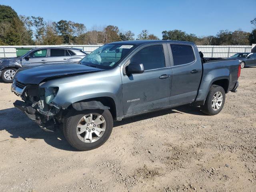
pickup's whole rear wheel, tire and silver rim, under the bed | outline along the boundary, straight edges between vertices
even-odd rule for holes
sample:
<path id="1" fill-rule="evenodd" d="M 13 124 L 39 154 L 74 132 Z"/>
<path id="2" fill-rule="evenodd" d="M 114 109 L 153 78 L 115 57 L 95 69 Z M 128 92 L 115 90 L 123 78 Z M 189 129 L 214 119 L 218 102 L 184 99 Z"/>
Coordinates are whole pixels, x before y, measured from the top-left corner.
<path id="1" fill-rule="evenodd" d="M 225 103 L 225 91 L 221 86 L 212 85 L 202 107 L 202 112 L 208 115 L 218 114 Z"/>

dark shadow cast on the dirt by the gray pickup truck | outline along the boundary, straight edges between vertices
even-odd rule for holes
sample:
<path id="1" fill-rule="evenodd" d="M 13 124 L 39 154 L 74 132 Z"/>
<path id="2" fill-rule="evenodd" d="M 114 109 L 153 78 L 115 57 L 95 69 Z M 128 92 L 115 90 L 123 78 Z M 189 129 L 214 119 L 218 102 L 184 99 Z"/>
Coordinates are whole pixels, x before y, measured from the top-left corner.
<path id="1" fill-rule="evenodd" d="M 194 106 L 182 106 L 174 109 L 161 110 L 157 112 L 150 112 L 131 118 L 124 119 L 122 121 L 114 122 L 114 127 L 137 122 L 140 120 L 154 118 L 170 113 L 187 113 L 190 112 L 196 115 L 203 115 Z M 6 130 L 11 134 L 11 138 L 22 138 L 23 140 L 31 139 L 43 139 L 47 144 L 61 150 L 76 151 L 64 138 L 61 130 L 57 129 L 56 132 L 46 132 L 38 127 L 38 125 L 30 120 L 25 114 L 16 108 L 8 108 L 0 110 L 0 131 Z M 4 138 L 2 141 L 8 140 Z M 1 141 L 0 141 L 1 142 Z"/>

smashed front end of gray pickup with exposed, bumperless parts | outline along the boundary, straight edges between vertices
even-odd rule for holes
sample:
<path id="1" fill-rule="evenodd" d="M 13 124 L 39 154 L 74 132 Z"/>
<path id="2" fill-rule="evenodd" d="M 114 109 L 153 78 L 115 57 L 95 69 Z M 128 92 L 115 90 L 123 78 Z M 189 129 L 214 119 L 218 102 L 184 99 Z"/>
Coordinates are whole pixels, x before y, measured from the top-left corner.
<path id="1" fill-rule="evenodd" d="M 58 87 L 40 88 L 37 84 L 23 84 L 14 80 L 11 90 L 23 100 L 14 102 L 16 108 L 35 121 L 40 128 L 55 131 L 61 108 L 52 100 L 58 93 Z"/>

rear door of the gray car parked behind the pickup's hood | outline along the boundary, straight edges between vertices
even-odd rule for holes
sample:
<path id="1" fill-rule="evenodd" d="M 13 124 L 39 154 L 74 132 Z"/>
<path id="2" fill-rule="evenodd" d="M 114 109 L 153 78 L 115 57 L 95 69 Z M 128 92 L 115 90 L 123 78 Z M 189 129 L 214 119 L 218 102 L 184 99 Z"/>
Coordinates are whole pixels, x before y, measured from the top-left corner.
<path id="1" fill-rule="evenodd" d="M 50 48 L 48 64 L 72 62 L 72 57 L 66 49 Z"/>

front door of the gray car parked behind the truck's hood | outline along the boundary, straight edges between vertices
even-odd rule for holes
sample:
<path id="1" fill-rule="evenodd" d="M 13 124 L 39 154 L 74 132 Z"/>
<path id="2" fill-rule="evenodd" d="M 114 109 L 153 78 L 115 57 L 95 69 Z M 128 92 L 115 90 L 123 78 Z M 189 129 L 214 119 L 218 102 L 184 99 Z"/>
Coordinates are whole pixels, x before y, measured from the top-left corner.
<path id="1" fill-rule="evenodd" d="M 32 51 L 29 59 L 22 58 L 22 65 L 24 67 L 42 65 L 47 62 L 48 49 L 37 49 Z"/>

